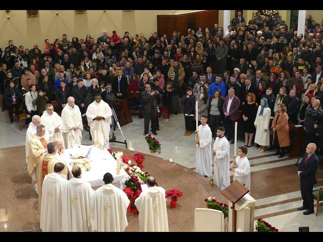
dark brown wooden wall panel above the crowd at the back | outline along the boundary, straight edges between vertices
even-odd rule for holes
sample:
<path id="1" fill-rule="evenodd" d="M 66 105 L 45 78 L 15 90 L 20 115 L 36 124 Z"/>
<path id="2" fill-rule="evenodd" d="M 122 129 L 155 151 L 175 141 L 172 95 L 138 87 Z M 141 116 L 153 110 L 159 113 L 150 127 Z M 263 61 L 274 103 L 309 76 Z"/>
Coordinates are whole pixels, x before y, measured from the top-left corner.
<path id="1" fill-rule="evenodd" d="M 219 10 L 208 10 L 196 13 L 181 15 L 157 15 L 157 33 L 158 36 L 167 34 L 168 38 L 173 36 L 173 31 L 181 32 L 181 35 L 187 35 L 187 29 L 201 27 L 203 30 L 213 28 L 214 24 L 219 24 Z"/>

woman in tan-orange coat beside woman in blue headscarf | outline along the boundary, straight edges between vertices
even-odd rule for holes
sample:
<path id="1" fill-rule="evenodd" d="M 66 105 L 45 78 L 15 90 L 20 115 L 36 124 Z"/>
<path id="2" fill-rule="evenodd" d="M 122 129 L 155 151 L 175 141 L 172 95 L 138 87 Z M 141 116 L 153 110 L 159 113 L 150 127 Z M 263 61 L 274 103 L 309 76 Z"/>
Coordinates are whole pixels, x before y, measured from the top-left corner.
<path id="1" fill-rule="evenodd" d="M 291 145 L 286 111 L 287 108 L 284 103 L 278 104 L 278 111 L 272 123 L 272 130 L 274 131 L 273 145 L 277 147 L 276 155 L 279 155 L 279 158 L 285 156 L 284 148 Z"/>

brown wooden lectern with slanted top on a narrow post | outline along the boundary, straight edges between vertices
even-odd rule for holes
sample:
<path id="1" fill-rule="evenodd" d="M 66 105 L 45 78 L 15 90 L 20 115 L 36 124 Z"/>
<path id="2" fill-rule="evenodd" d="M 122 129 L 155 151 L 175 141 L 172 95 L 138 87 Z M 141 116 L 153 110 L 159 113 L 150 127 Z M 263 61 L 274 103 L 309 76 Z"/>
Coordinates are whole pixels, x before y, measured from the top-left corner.
<path id="1" fill-rule="evenodd" d="M 243 186 L 239 181 L 234 180 L 233 183 L 227 187 L 225 190 L 222 190 L 221 193 L 232 203 L 232 227 L 233 232 L 237 231 L 237 211 L 235 210 L 235 203 L 238 202 L 244 195 L 246 195 L 249 190 Z"/>

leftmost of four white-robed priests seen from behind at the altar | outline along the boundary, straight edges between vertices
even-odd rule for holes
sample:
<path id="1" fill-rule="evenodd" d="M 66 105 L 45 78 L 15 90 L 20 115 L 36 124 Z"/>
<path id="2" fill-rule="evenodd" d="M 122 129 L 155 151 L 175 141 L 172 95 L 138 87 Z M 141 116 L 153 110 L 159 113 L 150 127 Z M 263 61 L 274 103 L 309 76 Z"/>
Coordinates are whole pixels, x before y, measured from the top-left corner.
<path id="1" fill-rule="evenodd" d="M 61 162 L 56 163 L 54 172 L 45 175 L 43 180 L 40 210 L 40 228 L 43 232 L 62 231 L 62 189 L 67 183 L 62 172 L 65 167 Z"/>

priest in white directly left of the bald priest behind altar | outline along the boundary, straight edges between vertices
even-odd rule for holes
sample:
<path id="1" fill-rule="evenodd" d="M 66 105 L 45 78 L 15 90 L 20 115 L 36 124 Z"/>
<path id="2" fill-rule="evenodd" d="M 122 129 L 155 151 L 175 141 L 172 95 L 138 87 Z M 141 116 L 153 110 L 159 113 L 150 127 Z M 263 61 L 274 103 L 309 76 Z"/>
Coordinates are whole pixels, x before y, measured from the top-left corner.
<path id="1" fill-rule="evenodd" d="M 62 118 L 54 111 L 51 103 L 45 105 L 46 110 L 41 115 L 41 124 L 46 127 L 49 134 L 49 141 L 58 138 L 63 140 Z M 64 143 L 63 143 L 64 144 Z"/>

